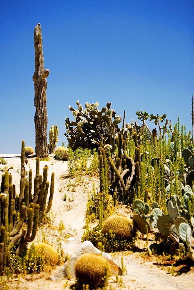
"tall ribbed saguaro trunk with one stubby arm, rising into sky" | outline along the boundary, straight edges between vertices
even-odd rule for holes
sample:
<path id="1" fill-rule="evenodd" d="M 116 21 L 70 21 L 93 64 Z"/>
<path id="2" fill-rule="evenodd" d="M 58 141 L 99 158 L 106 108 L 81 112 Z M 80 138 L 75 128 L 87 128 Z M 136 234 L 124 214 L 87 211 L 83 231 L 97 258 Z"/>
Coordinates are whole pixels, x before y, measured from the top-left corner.
<path id="1" fill-rule="evenodd" d="M 36 107 L 36 113 L 34 117 L 36 142 L 35 153 L 39 157 L 48 156 L 47 145 L 47 109 L 46 109 L 46 77 L 49 75 L 49 70 L 44 70 L 44 58 L 42 52 L 42 33 L 40 23 L 34 30 L 34 48 L 35 48 L 35 72 L 33 75 L 34 81 L 34 106 Z"/>

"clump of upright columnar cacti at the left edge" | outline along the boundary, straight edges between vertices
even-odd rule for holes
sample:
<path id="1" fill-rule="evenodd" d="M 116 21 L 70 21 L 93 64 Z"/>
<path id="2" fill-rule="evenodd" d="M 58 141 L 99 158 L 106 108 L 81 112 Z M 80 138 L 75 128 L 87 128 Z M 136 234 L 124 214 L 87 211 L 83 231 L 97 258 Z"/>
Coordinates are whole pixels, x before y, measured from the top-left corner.
<path id="1" fill-rule="evenodd" d="M 51 177 L 50 197 L 46 206 L 49 182 L 47 182 L 48 167 L 44 167 L 43 177 L 39 175 L 39 157 L 37 157 L 36 176 L 34 180 L 34 194 L 32 195 L 32 171 L 29 171 L 29 180 L 25 176 L 25 144 L 21 148 L 21 179 L 20 193 L 15 192 L 11 173 L 6 168 L 2 175 L 0 194 L 0 272 L 9 260 L 10 248 L 17 244 L 16 255 L 20 255 L 28 242 L 35 238 L 38 220 L 44 213 L 48 213 L 52 205 L 54 192 L 54 173 Z M 25 205 L 24 205 L 25 204 Z M 18 219 L 19 217 L 19 219 Z M 26 229 L 24 222 L 26 219 Z"/>

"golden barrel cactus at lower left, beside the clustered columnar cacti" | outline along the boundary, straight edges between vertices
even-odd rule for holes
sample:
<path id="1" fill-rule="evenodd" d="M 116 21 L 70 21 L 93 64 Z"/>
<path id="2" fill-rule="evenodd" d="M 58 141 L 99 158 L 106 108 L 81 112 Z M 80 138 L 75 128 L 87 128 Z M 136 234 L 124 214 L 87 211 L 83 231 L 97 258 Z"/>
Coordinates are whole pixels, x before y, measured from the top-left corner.
<path id="1" fill-rule="evenodd" d="M 56 265 L 59 260 L 58 251 L 46 243 L 37 243 L 34 245 L 37 253 L 43 255 L 51 265 Z"/>

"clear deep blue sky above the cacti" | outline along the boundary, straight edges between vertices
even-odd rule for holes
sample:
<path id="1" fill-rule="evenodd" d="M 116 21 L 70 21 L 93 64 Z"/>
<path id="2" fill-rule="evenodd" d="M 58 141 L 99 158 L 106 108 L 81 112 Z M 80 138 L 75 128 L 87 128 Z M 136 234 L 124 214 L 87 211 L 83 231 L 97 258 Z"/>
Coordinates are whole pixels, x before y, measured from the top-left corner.
<path id="1" fill-rule="evenodd" d="M 177 117 L 188 130 L 194 92 L 194 1 L 1 0 L 0 154 L 35 147 L 34 28 L 41 23 L 47 78 L 47 132 L 68 105 L 111 102 L 125 121 L 136 111 Z M 141 123 L 141 122 L 140 122 Z M 139 124 L 140 124 L 139 123 Z M 151 129 L 153 122 L 148 121 Z"/>

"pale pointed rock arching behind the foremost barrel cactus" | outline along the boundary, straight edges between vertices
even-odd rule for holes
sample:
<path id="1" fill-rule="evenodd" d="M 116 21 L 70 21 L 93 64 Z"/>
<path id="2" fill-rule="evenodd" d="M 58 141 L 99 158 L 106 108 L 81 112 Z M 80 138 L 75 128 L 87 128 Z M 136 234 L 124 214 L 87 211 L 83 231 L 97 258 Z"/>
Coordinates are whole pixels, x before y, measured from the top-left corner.
<path id="1" fill-rule="evenodd" d="M 49 279 L 54 281 L 65 279 L 69 276 L 71 276 L 71 278 L 75 278 L 76 260 L 85 253 L 94 253 L 97 255 L 102 255 L 109 262 L 110 273 L 112 275 L 121 275 L 121 268 L 109 254 L 101 252 L 100 250 L 95 248 L 90 241 L 85 241 L 81 244 L 80 248 L 71 256 L 71 258 L 67 262 L 65 262 L 64 265 L 58 269 L 58 271 L 53 273 L 53 275 L 51 275 Z"/>

